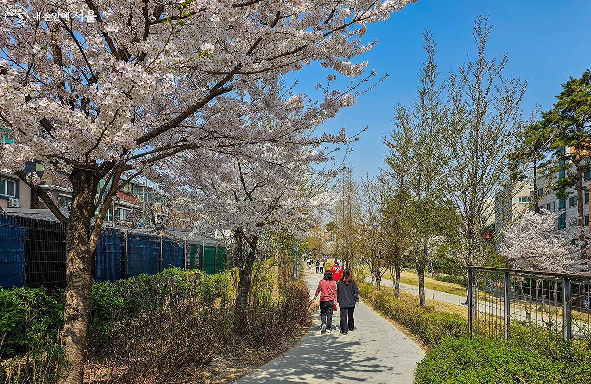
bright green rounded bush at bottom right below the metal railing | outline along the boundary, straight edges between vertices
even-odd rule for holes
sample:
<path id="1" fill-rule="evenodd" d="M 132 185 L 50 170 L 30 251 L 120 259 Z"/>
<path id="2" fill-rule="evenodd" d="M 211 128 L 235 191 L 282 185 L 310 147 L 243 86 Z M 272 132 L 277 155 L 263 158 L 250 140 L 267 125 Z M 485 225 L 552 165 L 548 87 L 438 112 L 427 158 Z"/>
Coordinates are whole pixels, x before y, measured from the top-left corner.
<path id="1" fill-rule="evenodd" d="M 562 368 L 517 343 L 462 337 L 429 350 L 417 366 L 415 383 L 574 383 Z"/>

